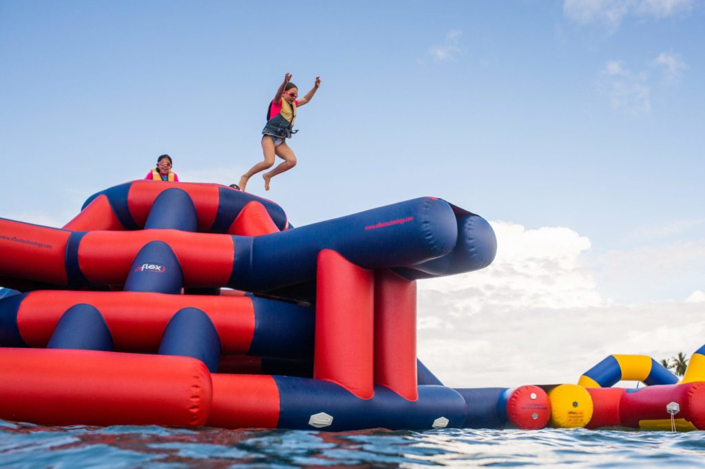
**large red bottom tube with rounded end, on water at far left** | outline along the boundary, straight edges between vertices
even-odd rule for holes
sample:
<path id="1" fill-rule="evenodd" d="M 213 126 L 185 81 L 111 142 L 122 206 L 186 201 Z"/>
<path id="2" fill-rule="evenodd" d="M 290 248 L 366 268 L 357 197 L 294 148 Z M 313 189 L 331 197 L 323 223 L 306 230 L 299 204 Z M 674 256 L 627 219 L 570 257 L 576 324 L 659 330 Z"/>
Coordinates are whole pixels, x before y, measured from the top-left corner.
<path id="1" fill-rule="evenodd" d="M 0 349 L 0 418 L 46 425 L 200 427 L 210 373 L 182 356 Z"/>

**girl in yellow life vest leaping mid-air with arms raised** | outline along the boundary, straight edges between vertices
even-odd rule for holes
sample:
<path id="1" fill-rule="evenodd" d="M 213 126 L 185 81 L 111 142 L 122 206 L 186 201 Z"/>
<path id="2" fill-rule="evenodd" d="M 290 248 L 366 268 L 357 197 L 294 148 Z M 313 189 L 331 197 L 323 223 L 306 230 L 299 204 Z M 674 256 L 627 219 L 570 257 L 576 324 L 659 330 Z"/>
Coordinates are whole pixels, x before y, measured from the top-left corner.
<path id="1" fill-rule="evenodd" d="M 240 190 L 245 190 L 247 180 L 250 180 L 252 175 L 271 168 L 272 165 L 274 165 L 274 156 L 278 156 L 284 161 L 279 163 L 279 165 L 269 171 L 269 173 L 262 175 L 264 178 L 264 190 L 266 191 L 269 190 L 269 181 L 272 177 L 286 170 L 290 170 L 296 165 L 296 156 L 286 144 L 286 139 L 291 138 L 291 135 L 296 132 L 293 130 L 294 121 L 296 120 L 296 109 L 311 101 L 318 87 L 321 86 L 321 79 L 316 77 L 311 91 L 301 99 L 298 99 L 298 88 L 289 80 L 291 80 L 291 74 L 287 73 L 284 75 L 284 81 L 279 86 L 279 89 L 276 90 L 274 99 L 272 99 L 269 105 L 267 123 L 262 130 L 262 152 L 264 153 L 264 161 L 260 161 L 252 166 L 243 177 L 240 177 L 240 183 L 238 184 Z"/>

